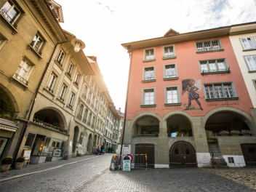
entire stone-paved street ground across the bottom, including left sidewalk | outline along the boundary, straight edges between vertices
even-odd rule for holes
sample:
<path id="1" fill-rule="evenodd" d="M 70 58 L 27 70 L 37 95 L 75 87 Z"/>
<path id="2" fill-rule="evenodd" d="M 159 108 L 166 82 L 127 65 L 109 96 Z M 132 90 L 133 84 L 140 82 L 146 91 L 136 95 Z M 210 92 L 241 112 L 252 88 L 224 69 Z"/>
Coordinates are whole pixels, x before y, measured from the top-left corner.
<path id="1" fill-rule="evenodd" d="M 113 172 L 109 171 L 110 161 L 111 155 L 84 156 L 11 170 L 7 172 L 9 175 L 1 173 L 1 180 L 27 174 L 29 169 L 31 172 L 47 169 L 2 181 L 0 191 L 255 191 L 252 185 L 246 184 L 247 181 L 255 182 L 255 169 L 177 168 Z M 62 167 L 52 169 L 56 166 Z"/>

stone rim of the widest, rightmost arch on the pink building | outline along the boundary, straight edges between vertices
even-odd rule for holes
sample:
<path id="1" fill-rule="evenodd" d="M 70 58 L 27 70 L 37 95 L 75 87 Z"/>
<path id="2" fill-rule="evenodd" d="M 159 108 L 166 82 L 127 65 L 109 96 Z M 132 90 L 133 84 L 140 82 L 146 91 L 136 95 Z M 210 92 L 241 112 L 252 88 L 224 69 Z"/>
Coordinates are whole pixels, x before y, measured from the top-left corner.
<path id="1" fill-rule="evenodd" d="M 209 111 L 204 116 L 204 123 L 207 123 L 207 120 L 215 115 L 216 113 L 225 112 L 225 113 L 231 113 L 233 116 L 239 117 L 244 123 L 247 124 L 249 129 L 251 129 L 253 132 L 256 132 L 255 124 L 253 123 L 252 116 L 250 116 L 248 113 L 242 111 L 239 108 L 231 108 L 231 107 L 221 107 L 221 108 L 214 108 L 211 111 Z"/>

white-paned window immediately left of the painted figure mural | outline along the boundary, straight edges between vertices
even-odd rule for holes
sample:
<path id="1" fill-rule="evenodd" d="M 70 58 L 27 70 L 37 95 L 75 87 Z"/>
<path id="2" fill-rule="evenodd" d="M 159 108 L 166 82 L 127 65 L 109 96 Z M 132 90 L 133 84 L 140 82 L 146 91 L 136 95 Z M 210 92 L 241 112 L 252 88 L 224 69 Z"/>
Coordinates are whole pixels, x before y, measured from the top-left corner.
<path id="1" fill-rule="evenodd" d="M 164 87 L 165 106 L 181 105 L 180 89 L 178 85 Z"/>

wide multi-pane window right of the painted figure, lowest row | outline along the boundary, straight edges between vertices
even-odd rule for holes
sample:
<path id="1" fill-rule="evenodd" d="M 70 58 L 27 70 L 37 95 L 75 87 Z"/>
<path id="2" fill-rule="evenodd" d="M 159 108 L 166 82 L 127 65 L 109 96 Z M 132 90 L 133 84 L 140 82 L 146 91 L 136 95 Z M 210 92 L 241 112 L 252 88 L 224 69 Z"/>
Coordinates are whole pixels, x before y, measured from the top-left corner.
<path id="1" fill-rule="evenodd" d="M 206 100 L 237 100 L 233 82 L 204 84 Z"/>

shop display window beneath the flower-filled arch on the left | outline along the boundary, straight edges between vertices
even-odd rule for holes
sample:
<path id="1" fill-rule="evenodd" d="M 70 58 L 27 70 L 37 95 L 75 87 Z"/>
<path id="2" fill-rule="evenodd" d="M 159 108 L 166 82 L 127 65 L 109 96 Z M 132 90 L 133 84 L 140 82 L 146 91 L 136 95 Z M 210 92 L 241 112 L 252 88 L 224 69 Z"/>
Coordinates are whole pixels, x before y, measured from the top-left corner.
<path id="1" fill-rule="evenodd" d="M 65 142 L 47 137 L 41 156 L 63 156 Z"/>

